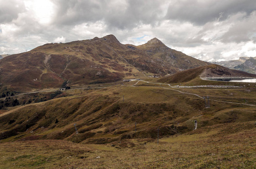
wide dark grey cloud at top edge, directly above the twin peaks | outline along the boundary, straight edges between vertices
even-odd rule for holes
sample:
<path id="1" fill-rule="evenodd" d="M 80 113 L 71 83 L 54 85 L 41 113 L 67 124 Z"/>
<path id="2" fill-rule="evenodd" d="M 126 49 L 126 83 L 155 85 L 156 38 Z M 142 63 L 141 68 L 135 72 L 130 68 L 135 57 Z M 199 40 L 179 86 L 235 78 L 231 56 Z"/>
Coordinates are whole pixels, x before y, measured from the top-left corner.
<path id="1" fill-rule="evenodd" d="M 74 25 L 102 20 L 109 29 L 134 28 L 140 24 L 155 24 L 160 21 L 164 1 L 79 1 L 53 0 L 57 14 L 53 23 Z"/>

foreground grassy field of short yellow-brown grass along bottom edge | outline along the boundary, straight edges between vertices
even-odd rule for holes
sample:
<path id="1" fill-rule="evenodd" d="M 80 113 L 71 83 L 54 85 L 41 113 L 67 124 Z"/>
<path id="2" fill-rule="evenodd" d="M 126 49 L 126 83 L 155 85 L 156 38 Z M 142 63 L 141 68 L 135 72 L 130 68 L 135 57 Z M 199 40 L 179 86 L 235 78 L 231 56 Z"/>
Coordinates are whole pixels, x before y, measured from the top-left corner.
<path id="1" fill-rule="evenodd" d="M 0 144 L 1 168 L 255 168 L 255 122 L 217 124 L 183 135 L 110 144 L 63 140 Z"/>

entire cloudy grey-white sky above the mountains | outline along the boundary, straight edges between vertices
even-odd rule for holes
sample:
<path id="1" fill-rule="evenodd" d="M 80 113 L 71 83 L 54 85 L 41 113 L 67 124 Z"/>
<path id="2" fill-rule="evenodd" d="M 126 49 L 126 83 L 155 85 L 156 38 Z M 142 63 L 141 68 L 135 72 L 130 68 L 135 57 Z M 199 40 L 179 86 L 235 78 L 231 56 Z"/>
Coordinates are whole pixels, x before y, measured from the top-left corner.
<path id="1" fill-rule="evenodd" d="M 0 55 L 114 34 L 205 61 L 256 56 L 255 0 L 0 0 Z"/>

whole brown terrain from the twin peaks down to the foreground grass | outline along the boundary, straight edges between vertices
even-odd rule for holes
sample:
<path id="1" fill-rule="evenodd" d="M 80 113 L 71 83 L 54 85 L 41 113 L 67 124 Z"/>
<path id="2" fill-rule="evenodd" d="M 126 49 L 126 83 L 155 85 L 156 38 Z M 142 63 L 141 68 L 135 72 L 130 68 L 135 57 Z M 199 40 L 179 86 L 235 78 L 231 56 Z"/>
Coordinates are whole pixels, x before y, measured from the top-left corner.
<path id="1" fill-rule="evenodd" d="M 113 35 L 0 68 L 1 168 L 256 167 L 256 84 L 209 80 L 255 74 Z"/>

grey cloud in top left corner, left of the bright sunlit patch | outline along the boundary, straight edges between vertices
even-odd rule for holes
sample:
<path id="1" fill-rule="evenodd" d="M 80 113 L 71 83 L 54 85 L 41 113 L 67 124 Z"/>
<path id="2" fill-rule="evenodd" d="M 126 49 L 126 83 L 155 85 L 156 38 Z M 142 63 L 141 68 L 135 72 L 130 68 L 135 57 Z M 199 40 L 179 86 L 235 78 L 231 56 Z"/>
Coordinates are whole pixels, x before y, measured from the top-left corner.
<path id="1" fill-rule="evenodd" d="M 8 23 L 18 18 L 20 12 L 25 11 L 25 6 L 19 0 L 0 0 L 0 23 Z"/>

